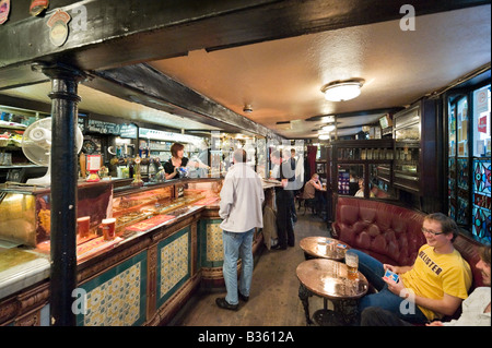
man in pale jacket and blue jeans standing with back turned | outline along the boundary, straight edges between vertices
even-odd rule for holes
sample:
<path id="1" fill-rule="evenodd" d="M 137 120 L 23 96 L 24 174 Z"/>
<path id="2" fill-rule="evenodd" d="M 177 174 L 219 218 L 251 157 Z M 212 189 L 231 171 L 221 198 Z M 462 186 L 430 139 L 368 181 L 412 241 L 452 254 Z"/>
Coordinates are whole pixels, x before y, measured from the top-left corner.
<path id="1" fill-rule="evenodd" d="M 248 301 L 253 278 L 253 237 L 256 227 L 263 227 L 261 204 L 265 200 L 261 178 L 246 164 L 246 152 L 236 149 L 232 166 L 221 190 L 219 215 L 224 247 L 223 274 L 227 295 L 215 299 L 216 305 L 237 310 L 241 298 Z M 237 260 L 243 267 L 237 284 Z"/>

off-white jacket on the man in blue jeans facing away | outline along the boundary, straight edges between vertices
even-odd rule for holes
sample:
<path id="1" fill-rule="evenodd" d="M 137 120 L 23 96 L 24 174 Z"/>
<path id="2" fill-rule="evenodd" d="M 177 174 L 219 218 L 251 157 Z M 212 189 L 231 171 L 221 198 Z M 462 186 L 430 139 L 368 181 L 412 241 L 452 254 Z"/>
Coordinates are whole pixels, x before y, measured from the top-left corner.
<path id="1" fill-rule="evenodd" d="M 247 232 L 263 227 L 263 201 L 261 178 L 248 165 L 235 164 L 229 169 L 221 190 L 221 228 L 227 232 Z"/>

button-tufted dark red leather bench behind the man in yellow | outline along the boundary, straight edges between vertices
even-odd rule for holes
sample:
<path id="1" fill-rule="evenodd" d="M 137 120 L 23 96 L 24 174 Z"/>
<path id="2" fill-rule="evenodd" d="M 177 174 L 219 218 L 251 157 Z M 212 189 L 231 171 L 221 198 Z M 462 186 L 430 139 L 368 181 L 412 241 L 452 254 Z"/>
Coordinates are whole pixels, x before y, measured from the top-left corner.
<path id="1" fill-rule="evenodd" d="M 342 196 L 337 202 L 331 235 L 382 263 L 410 266 L 425 243 L 421 231 L 425 215 L 380 201 Z M 473 284 L 469 292 L 483 286 L 480 271 L 476 267 L 481 243 L 460 233 L 454 247 L 470 264 Z"/>

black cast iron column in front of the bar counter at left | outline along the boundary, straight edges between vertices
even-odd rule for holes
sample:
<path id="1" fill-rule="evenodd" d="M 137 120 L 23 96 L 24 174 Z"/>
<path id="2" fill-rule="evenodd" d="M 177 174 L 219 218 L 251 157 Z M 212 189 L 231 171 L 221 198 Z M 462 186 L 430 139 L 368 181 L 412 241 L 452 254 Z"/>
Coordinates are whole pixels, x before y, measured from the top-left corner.
<path id="1" fill-rule="evenodd" d="M 75 325 L 72 291 L 77 287 L 75 130 L 78 84 L 84 73 L 61 64 L 37 65 L 51 80 L 51 325 Z"/>

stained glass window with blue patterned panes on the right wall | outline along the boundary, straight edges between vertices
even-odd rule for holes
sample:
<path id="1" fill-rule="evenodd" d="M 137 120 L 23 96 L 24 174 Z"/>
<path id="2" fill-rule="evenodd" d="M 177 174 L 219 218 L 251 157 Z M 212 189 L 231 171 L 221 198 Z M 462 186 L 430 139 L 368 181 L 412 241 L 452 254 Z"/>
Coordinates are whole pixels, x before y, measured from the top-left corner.
<path id="1" fill-rule="evenodd" d="M 491 242 L 490 85 L 448 101 L 448 215 Z"/>

